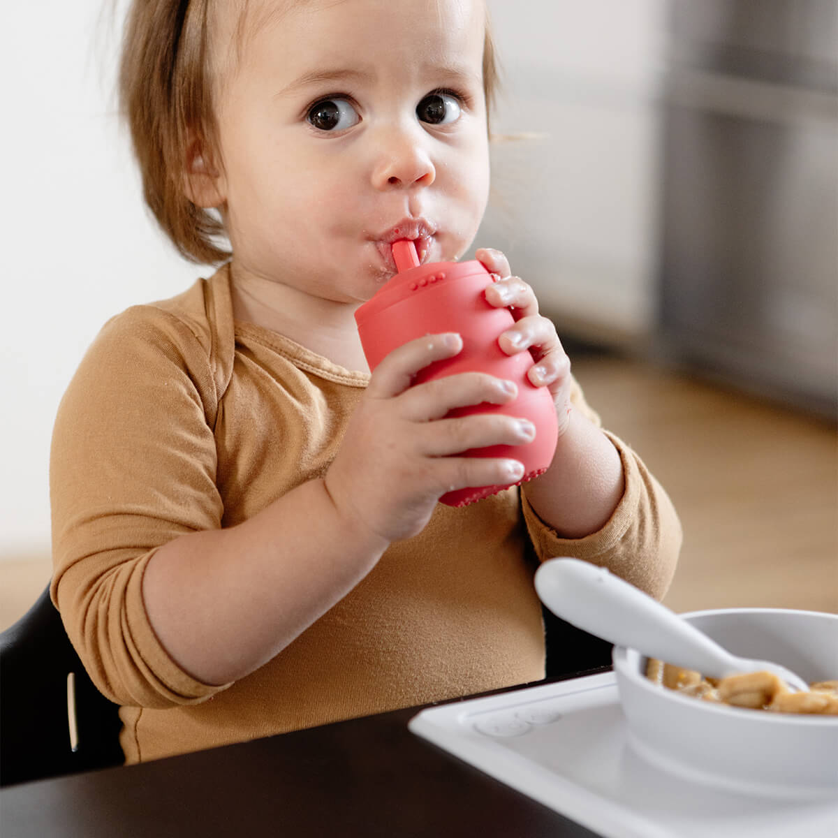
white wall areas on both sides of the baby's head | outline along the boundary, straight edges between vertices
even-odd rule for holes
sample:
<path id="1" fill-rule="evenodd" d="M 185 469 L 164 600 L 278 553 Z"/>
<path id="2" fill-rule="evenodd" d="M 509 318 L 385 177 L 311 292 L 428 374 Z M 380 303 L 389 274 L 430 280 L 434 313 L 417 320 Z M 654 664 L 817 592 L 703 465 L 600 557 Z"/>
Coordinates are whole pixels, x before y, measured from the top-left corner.
<path id="1" fill-rule="evenodd" d="M 201 272 L 143 209 L 111 96 L 118 24 L 101 18 L 108 2 L 0 11 L 0 559 L 49 550 L 51 427 L 101 324 Z M 504 206 L 480 242 L 509 249 L 551 307 L 628 312 L 629 328 L 648 316 L 648 96 L 663 2 L 490 0 L 510 92 L 497 128 L 549 138 L 499 149 Z M 617 314 L 601 307 L 609 295 Z"/>

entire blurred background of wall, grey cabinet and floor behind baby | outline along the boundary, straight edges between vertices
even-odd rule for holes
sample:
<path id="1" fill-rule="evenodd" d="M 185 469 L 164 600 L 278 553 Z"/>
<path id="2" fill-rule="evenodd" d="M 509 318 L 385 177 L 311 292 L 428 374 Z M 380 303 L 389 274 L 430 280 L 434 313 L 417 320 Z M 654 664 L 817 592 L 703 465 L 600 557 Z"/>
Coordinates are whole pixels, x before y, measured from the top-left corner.
<path id="1" fill-rule="evenodd" d="M 208 269 L 143 208 L 125 3 L 5 4 L 0 629 L 49 580 L 49 438 L 113 314 Z M 489 0 L 504 70 L 477 244 L 556 323 L 685 529 L 676 610 L 838 611 L 838 3 Z"/>

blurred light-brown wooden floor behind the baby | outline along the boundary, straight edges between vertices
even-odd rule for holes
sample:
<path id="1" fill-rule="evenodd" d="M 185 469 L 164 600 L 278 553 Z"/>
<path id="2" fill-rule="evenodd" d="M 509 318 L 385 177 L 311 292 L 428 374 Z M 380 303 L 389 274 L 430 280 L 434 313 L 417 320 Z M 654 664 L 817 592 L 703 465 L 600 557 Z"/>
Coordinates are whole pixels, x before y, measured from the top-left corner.
<path id="1" fill-rule="evenodd" d="M 603 423 L 643 456 L 684 526 L 665 603 L 838 613 L 835 427 L 635 360 L 582 355 Z M 49 580 L 49 557 L 0 561 L 0 629 Z"/>

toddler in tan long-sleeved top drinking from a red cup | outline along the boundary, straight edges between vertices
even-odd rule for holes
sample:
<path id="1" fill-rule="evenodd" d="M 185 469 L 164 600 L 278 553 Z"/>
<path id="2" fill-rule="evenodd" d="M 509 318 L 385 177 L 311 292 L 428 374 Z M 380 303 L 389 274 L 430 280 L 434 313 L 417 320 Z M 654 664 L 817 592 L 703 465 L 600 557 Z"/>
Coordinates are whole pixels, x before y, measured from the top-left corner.
<path id="1" fill-rule="evenodd" d="M 54 429 L 52 596 L 128 763 L 540 679 L 532 556 L 665 592 L 670 501 L 501 253 L 476 254 L 515 317 L 499 345 L 559 417 L 540 478 L 437 504 L 520 479 L 457 455 L 528 422 L 445 418 L 515 385 L 413 385 L 458 334 L 374 375 L 360 349 L 392 242 L 447 261 L 478 230 L 495 78 L 483 0 L 134 0 L 121 92 L 147 204 L 218 268 L 107 323 Z"/>

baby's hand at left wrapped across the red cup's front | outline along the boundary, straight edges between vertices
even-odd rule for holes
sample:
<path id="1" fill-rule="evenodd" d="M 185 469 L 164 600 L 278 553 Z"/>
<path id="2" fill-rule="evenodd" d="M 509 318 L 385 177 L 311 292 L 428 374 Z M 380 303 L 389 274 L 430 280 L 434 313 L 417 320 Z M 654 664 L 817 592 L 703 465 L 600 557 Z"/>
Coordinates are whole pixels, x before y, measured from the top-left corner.
<path id="1" fill-rule="evenodd" d="M 517 460 L 452 455 L 531 442 L 530 422 L 499 414 L 445 418 L 455 407 L 514 401 L 513 382 L 471 372 L 413 385 L 419 370 L 461 349 L 458 334 L 432 334 L 387 355 L 326 474 L 339 512 L 388 543 L 419 533 L 442 494 L 512 484 L 524 474 Z"/>

